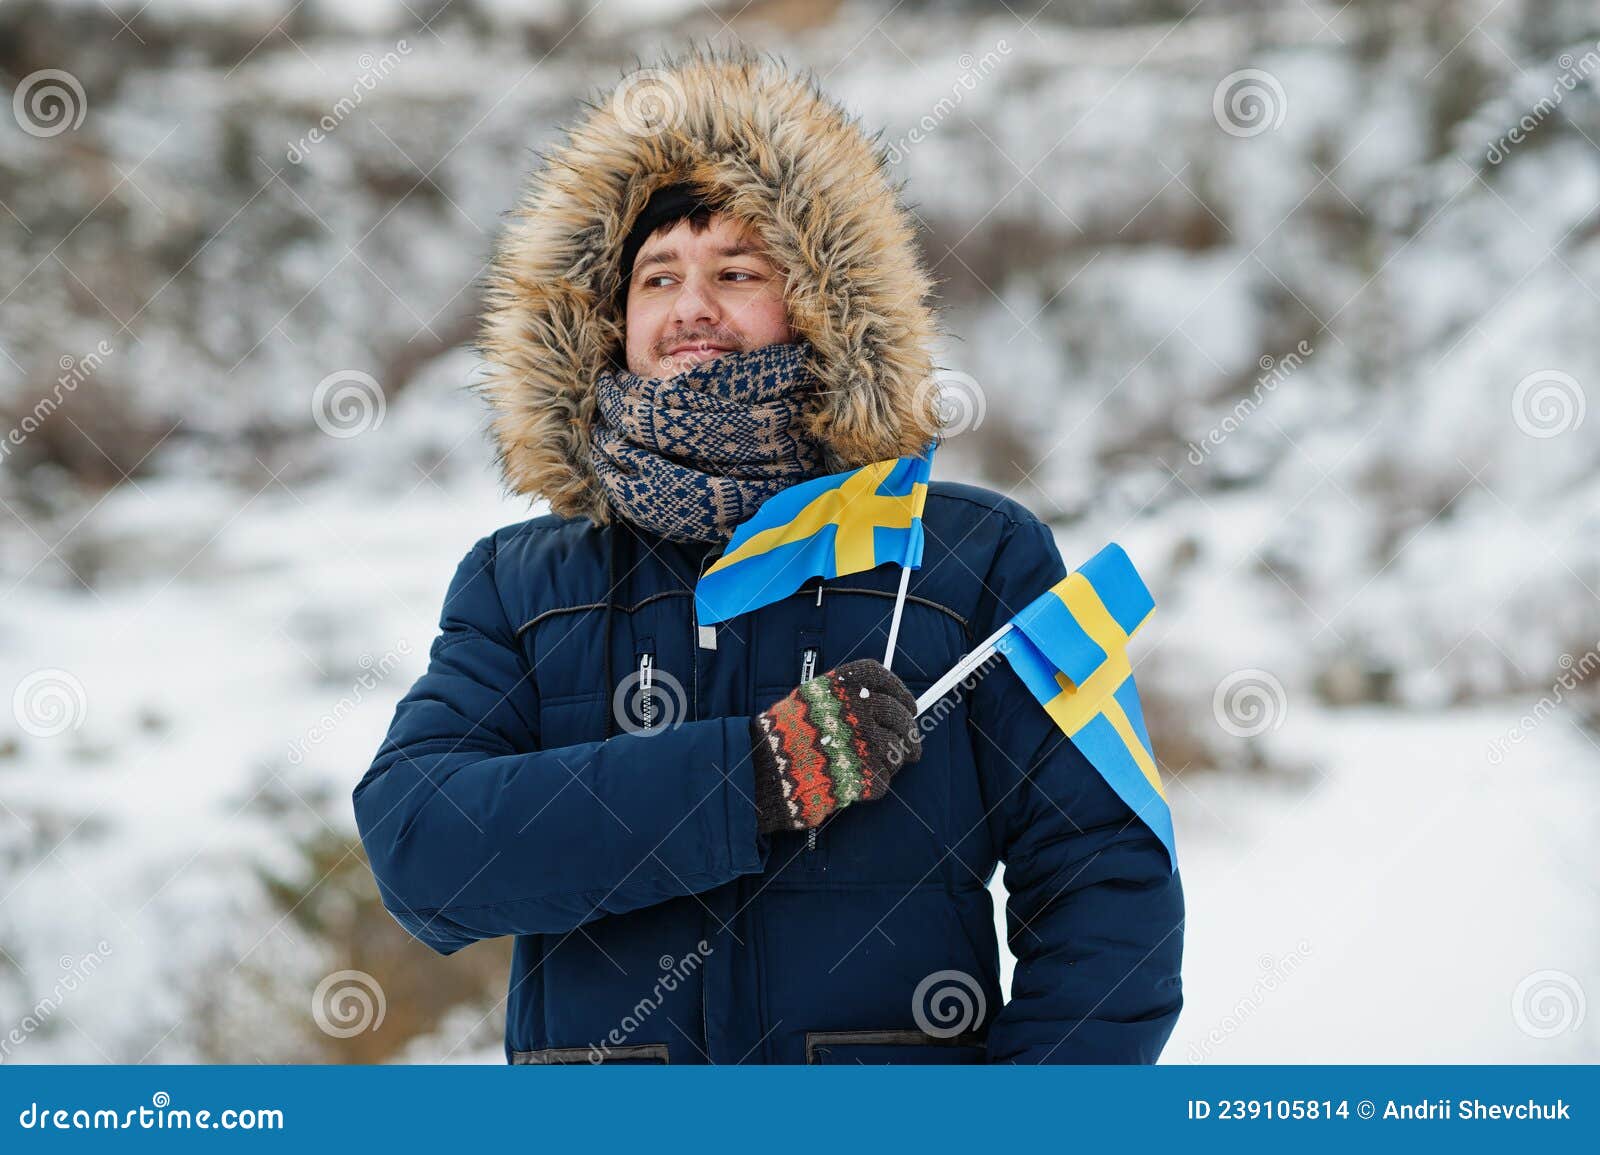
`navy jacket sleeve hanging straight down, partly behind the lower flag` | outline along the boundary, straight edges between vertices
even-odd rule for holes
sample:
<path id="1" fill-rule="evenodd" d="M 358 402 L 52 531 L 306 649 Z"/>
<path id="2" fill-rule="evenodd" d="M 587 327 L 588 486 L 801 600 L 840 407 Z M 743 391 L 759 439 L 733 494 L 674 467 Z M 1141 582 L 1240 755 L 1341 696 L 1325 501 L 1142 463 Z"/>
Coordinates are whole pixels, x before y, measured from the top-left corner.
<path id="1" fill-rule="evenodd" d="M 976 637 L 1066 571 L 1050 530 L 1022 510 L 986 579 Z M 1165 846 L 1003 659 L 974 686 L 968 725 L 1016 957 L 989 1061 L 1155 1062 L 1182 1009 L 1184 896 Z"/>

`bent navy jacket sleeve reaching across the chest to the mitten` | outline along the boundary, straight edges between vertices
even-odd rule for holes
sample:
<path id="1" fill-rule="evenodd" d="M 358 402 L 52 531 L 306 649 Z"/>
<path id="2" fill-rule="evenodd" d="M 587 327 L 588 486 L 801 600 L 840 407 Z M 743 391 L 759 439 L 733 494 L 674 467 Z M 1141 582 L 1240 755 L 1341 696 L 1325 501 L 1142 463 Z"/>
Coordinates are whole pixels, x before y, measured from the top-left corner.
<path id="1" fill-rule="evenodd" d="M 456 570 L 427 670 L 354 792 L 384 905 L 438 953 L 762 870 L 749 718 L 558 749 L 541 749 L 538 721 L 491 534 Z"/>

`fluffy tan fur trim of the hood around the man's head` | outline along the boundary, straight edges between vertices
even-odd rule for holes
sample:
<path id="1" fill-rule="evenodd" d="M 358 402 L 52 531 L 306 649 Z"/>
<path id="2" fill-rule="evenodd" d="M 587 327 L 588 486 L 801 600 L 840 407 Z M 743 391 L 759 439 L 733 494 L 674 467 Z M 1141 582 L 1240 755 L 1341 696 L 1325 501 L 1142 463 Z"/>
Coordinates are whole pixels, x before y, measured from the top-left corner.
<path id="1" fill-rule="evenodd" d="M 818 82 L 747 50 L 691 48 L 584 102 L 528 178 L 496 245 L 478 352 L 514 494 L 610 520 L 590 464 L 595 376 L 622 346 L 622 245 L 650 195 L 726 197 L 787 269 L 789 325 L 813 347 L 808 432 L 829 472 L 920 453 L 939 432 L 933 283 L 888 152 Z"/>

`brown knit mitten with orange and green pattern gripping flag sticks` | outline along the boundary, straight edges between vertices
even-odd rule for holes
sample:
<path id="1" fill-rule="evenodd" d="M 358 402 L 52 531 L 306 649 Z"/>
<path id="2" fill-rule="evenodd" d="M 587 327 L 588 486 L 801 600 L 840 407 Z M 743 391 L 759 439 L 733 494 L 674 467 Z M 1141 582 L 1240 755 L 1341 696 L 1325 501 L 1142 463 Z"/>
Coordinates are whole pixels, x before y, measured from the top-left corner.
<path id="1" fill-rule="evenodd" d="M 757 829 L 805 830 L 840 806 L 882 798 L 922 757 L 917 699 L 872 657 L 802 681 L 750 718 Z"/>

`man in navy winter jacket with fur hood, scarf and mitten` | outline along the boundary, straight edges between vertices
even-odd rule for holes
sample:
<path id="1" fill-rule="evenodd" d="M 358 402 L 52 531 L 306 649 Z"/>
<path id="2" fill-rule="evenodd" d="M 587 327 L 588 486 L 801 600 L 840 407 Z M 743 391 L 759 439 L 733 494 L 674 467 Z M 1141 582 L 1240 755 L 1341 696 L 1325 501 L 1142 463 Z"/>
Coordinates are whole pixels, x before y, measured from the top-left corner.
<path id="1" fill-rule="evenodd" d="M 496 253 L 499 464 L 552 512 L 462 560 L 355 787 L 384 904 L 445 955 L 515 936 L 510 1062 L 1154 1062 L 1162 843 L 1003 664 L 914 720 L 1066 573 L 1032 514 L 930 485 L 893 672 L 894 566 L 694 619 L 768 496 L 936 440 L 936 328 L 837 104 L 742 54 L 648 75 L 661 117 L 598 102 Z"/>

